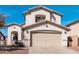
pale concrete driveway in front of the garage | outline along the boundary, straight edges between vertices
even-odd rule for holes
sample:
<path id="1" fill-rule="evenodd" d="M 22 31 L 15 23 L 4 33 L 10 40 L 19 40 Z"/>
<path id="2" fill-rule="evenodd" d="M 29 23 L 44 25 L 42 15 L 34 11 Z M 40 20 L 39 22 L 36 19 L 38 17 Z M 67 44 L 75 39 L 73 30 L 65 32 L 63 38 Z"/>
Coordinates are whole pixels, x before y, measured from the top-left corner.
<path id="1" fill-rule="evenodd" d="M 78 54 L 79 52 L 67 47 L 31 47 L 30 54 Z"/>

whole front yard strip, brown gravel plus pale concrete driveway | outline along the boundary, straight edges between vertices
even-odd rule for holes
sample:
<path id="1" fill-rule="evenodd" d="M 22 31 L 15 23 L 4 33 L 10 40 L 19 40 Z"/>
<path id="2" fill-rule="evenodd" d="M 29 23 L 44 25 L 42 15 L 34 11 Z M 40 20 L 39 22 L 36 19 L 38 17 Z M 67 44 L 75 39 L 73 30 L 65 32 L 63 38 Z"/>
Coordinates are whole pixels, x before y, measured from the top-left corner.
<path id="1" fill-rule="evenodd" d="M 30 52 L 29 52 L 30 50 Z M 36 49 L 36 48 L 18 48 L 18 49 L 1 49 L 0 54 L 79 54 L 79 47 L 63 47 L 53 49 Z"/>

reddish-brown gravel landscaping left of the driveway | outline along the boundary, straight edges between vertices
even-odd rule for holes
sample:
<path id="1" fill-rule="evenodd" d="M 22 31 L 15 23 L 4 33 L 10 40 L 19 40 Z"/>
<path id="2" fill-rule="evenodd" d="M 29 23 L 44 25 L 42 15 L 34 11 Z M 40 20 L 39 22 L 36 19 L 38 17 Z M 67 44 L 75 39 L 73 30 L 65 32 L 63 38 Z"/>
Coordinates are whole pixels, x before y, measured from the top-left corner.
<path id="1" fill-rule="evenodd" d="M 28 54 L 27 48 L 0 47 L 0 54 Z"/>

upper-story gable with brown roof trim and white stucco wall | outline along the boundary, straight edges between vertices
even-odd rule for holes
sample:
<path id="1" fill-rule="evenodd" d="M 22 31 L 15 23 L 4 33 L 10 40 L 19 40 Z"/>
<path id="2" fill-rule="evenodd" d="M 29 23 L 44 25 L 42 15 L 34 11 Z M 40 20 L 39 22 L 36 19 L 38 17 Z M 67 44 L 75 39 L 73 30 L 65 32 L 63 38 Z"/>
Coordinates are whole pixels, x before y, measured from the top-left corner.
<path id="1" fill-rule="evenodd" d="M 55 22 L 57 24 L 61 24 L 62 15 L 59 15 L 60 13 L 55 12 L 54 10 L 48 9 L 43 6 L 38 6 L 25 12 L 24 13 L 25 23 L 27 25 L 36 23 L 36 15 L 39 15 L 39 14 L 45 16 L 45 19 L 43 20 L 48 20 L 51 22 Z"/>

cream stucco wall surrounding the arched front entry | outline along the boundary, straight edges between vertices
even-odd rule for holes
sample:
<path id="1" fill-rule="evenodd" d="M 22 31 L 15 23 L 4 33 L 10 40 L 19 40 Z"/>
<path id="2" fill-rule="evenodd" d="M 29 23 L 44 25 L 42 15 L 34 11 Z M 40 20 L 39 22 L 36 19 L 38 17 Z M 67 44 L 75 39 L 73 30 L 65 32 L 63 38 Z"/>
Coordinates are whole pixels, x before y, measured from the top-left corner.
<path id="1" fill-rule="evenodd" d="M 13 31 L 16 31 L 18 32 L 18 40 L 21 40 L 21 35 L 22 35 L 22 30 L 21 30 L 21 27 L 20 26 L 17 26 L 17 25 L 13 25 L 13 26 L 10 26 L 8 27 L 8 39 L 6 41 L 7 45 L 11 45 L 12 44 L 12 35 L 11 35 L 11 32 Z"/>

